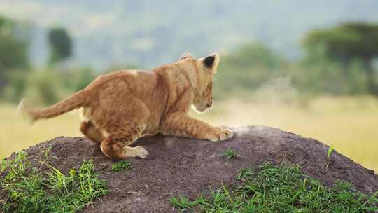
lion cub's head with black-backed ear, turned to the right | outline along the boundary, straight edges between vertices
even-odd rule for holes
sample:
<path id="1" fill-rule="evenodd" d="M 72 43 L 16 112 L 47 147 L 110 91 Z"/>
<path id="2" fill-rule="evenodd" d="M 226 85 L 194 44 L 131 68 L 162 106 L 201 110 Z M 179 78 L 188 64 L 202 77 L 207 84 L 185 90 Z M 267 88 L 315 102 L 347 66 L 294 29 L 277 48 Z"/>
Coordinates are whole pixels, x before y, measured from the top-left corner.
<path id="1" fill-rule="evenodd" d="M 204 112 L 213 105 L 213 77 L 218 68 L 219 55 L 213 53 L 196 60 L 192 55 L 186 53 L 180 57 L 180 60 L 195 62 L 198 74 L 192 107 L 196 111 Z"/>

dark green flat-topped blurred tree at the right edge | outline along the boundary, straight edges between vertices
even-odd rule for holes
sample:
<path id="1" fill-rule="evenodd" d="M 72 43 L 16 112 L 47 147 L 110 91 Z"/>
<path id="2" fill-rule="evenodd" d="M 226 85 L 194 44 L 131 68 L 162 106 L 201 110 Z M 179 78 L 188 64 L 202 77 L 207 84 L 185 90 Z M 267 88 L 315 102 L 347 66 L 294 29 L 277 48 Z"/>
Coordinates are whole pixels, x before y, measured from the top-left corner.
<path id="1" fill-rule="evenodd" d="M 374 58 L 378 57 L 378 25 L 346 23 L 330 29 L 314 30 L 305 37 L 304 47 L 309 58 L 323 53 L 330 60 L 341 62 L 344 68 L 353 60 L 362 61 L 367 88 L 378 95 L 377 76 L 372 65 Z"/>

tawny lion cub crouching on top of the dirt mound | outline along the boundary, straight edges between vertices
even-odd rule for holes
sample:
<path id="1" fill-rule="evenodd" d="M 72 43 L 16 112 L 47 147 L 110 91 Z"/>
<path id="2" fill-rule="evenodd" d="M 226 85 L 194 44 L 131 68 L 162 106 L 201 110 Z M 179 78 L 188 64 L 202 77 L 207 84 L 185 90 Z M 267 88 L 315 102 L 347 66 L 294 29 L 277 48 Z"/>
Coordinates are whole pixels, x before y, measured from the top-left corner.
<path id="1" fill-rule="evenodd" d="M 162 133 L 218 142 L 232 137 L 232 131 L 188 116 L 190 106 L 203 112 L 213 104 L 218 62 L 218 53 L 198 60 L 187 53 L 178 62 L 153 71 L 101 75 L 51 107 L 31 109 L 22 101 L 19 110 L 36 121 L 82 108 L 81 132 L 100 144 L 102 153 L 110 158 L 146 158 L 144 147 L 130 146 L 144 135 Z"/>

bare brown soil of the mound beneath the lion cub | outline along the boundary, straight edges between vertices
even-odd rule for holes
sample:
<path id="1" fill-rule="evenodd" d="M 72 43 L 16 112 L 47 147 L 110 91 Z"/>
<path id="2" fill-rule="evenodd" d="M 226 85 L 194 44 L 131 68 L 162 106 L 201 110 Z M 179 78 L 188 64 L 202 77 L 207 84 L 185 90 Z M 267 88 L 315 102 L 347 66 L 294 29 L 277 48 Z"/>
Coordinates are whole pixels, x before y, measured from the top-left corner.
<path id="1" fill-rule="evenodd" d="M 226 142 L 207 142 L 161 135 L 140 139 L 148 159 L 130 159 L 134 170 L 112 172 L 113 162 L 97 146 L 83 137 L 57 137 L 27 149 L 29 160 L 52 146 L 50 163 L 63 172 L 78 167 L 84 159 L 93 159 L 99 177 L 108 181 L 110 193 L 83 212 L 172 212 L 169 198 L 186 195 L 195 198 L 202 191 L 233 184 L 237 170 L 256 168 L 270 161 L 301 165 L 304 173 L 330 186 L 337 179 L 350 181 L 353 187 L 371 194 L 378 190 L 374 171 L 353 163 L 314 139 L 300 137 L 275 128 L 251 126 L 234 128 L 235 137 Z M 240 158 L 225 160 L 220 154 L 234 149 Z M 327 168 L 328 164 L 328 168 Z"/>

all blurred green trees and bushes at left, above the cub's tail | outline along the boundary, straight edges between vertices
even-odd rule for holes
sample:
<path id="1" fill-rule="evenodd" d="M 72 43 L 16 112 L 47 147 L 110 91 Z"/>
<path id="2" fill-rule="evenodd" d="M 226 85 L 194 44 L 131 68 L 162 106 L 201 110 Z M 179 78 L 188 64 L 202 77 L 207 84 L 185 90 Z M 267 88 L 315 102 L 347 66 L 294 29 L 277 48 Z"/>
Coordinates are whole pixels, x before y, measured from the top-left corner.
<path id="1" fill-rule="evenodd" d="M 97 74 L 88 68 L 51 67 L 32 69 L 28 61 L 27 37 L 20 37 L 15 22 L 0 17 L 0 98 L 19 102 L 22 97 L 39 104 L 52 104 L 85 88 Z M 23 34 L 26 34 L 23 32 Z M 62 62 L 72 55 L 73 44 L 66 29 L 52 28 L 49 65 Z"/>

